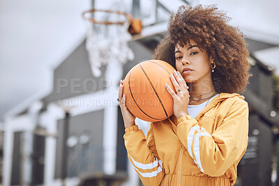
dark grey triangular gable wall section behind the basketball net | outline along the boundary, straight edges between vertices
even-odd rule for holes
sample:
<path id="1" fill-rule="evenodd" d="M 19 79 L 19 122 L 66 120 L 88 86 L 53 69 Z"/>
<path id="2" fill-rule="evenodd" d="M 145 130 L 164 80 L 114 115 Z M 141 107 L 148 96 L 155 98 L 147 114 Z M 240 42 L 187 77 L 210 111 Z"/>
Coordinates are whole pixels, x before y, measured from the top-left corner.
<path id="1" fill-rule="evenodd" d="M 94 77 L 91 72 L 85 42 L 75 49 L 68 58 L 54 70 L 54 87 L 52 93 L 43 99 L 45 104 L 71 98 L 84 93 L 94 93 L 106 88 L 105 66 L 102 75 Z"/>

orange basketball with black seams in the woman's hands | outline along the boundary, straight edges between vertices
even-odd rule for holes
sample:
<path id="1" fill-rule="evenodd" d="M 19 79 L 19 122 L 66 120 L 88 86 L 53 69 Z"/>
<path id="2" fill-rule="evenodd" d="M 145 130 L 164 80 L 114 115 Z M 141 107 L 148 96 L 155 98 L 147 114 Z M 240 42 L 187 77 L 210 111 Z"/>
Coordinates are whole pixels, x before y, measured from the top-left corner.
<path id="1" fill-rule="evenodd" d="M 137 118 L 150 122 L 163 121 L 172 116 L 174 100 L 165 84 L 174 90 L 170 80 L 173 72 L 172 65 L 160 60 L 135 65 L 123 80 L 123 93 L 129 111 Z"/>

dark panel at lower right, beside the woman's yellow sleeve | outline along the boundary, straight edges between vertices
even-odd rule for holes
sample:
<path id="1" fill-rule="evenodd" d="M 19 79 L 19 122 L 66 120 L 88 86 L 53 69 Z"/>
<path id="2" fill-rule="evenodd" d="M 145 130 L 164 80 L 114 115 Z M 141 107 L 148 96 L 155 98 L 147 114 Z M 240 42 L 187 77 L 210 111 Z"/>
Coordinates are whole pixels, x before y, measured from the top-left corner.
<path id="1" fill-rule="evenodd" d="M 238 186 L 271 185 L 272 132 L 257 114 L 250 115 L 249 123 L 249 143 L 239 164 Z"/>

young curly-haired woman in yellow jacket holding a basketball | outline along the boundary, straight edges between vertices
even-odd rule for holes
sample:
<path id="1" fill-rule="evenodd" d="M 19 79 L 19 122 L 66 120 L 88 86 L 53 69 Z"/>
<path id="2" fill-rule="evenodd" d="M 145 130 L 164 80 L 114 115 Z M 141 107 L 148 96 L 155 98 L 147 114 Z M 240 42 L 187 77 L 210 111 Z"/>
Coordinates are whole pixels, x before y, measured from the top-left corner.
<path id="1" fill-rule="evenodd" d="M 174 66 L 174 115 L 150 123 L 144 136 L 119 105 L 128 158 L 144 185 L 234 185 L 248 144 L 248 104 L 239 93 L 250 76 L 246 42 L 216 6 L 181 6 L 154 59 Z"/>

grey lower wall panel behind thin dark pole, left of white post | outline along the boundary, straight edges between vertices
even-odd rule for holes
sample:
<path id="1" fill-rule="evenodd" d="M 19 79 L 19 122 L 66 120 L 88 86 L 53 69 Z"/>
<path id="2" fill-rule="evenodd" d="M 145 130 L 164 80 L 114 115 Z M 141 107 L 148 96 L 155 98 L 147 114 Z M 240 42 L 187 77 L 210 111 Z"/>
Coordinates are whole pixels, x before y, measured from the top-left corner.
<path id="1" fill-rule="evenodd" d="M 94 111 L 70 118 L 69 137 L 75 146 L 68 148 L 68 176 L 84 176 L 103 172 L 103 116 L 104 111 Z M 56 143 L 55 178 L 61 178 L 62 125 L 58 123 L 59 137 Z M 87 144 L 81 143 L 82 134 L 90 136 Z"/>

